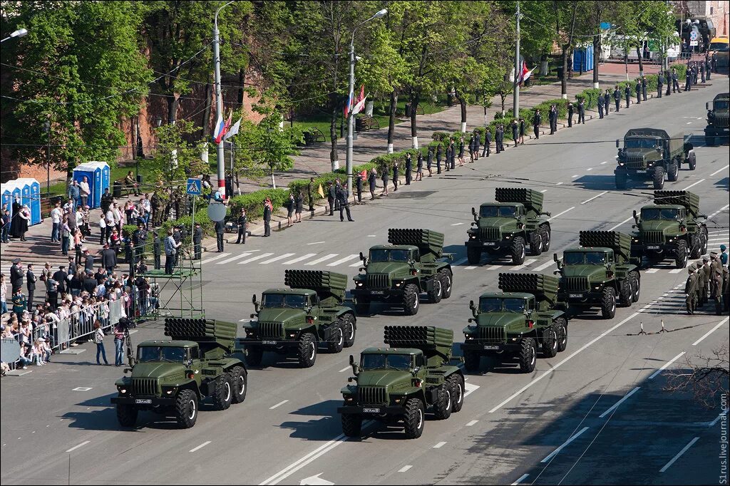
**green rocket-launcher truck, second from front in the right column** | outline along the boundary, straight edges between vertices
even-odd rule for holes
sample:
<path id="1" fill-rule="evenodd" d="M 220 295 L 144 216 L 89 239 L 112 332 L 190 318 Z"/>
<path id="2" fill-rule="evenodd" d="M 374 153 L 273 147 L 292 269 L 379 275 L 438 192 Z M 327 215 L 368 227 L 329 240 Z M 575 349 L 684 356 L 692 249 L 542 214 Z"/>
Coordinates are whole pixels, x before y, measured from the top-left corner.
<path id="1" fill-rule="evenodd" d="M 535 369 L 537 350 L 553 358 L 568 344 L 566 305 L 558 300 L 558 278 L 542 274 L 499 274 L 502 292 L 469 302 L 474 317 L 464 328 L 464 367 L 479 371 L 482 356 L 517 358 L 520 371 Z"/>

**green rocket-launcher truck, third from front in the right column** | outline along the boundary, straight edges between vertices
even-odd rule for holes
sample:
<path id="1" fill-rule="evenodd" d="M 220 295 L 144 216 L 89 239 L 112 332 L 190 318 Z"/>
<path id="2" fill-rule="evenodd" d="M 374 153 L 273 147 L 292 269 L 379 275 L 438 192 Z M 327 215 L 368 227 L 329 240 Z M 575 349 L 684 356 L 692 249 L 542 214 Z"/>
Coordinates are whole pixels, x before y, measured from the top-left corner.
<path id="1" fill-rule="evenodd" d="M 631 257 L 631 236 L 618 231 L 580 231 L 580 247 L 569 248 L 558 263 L 558 300 L 571 309 L 601 307 L 604 319 L 616 314 L 616 301 L 631 306 L 641 293 L 640 258 Z"/>

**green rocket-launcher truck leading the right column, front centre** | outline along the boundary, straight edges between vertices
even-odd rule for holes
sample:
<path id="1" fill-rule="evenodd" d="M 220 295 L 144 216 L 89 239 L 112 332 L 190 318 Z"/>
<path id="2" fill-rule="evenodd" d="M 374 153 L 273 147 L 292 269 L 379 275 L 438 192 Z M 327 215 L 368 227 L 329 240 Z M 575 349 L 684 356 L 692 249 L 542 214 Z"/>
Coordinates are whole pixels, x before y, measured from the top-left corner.
<path id="1" fill-rule="evenodd" d="M 426 410 L 439 420 L 464 405 L 464 374 L 460 358 L 452 356 L 453 331 L 425 325 L 386 325 L 388 348 L 350 355 L 355 385 L 342 388 L 344 404 L 337 409 L 342 433 L 359 437 L 363 419 L 402 423 L 407 439 L 423 433 Z"/>

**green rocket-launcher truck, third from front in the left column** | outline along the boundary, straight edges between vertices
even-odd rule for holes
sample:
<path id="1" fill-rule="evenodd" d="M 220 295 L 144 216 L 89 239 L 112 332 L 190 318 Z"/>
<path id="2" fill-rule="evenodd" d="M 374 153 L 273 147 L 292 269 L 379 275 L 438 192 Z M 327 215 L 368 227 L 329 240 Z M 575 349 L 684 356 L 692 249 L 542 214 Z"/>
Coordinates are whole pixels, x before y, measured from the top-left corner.
<path id="1" fill-rule="evenodd" d="M 441 258 L 444 235 L 427 229 L 388 229 L 389 245 L 370 247 L 364 263 L 354 278 L 352 295 L 358 315 L 369 313 L 370 303 L 389 302 L 403 306 L 404 315 L 415 315 L 420 307 L 420 294 L 438 303 L 451 296 L 453 272 Z"/>

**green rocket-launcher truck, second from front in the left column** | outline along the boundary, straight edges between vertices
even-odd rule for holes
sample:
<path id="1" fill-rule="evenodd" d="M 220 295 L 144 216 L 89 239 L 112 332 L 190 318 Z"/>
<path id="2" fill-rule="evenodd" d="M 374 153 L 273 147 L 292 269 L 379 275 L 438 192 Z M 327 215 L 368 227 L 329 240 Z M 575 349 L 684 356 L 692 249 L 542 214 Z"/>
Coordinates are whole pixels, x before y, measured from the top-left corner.
<path id="1" fill-rule="evenodd" d="M 350 307 L 342 305 L 347 275 L 334 271 L 284 271 L 288 288 L 272 288 L 253 296 L 255 314 L 243 328 L 241 339 L 247 362 L 261 365 L 264 351 L 294 354 L 299 366 L 309 368 L 317 360 L 318 347 L 340 352 L 355 343 L 356 318 Z"/>

